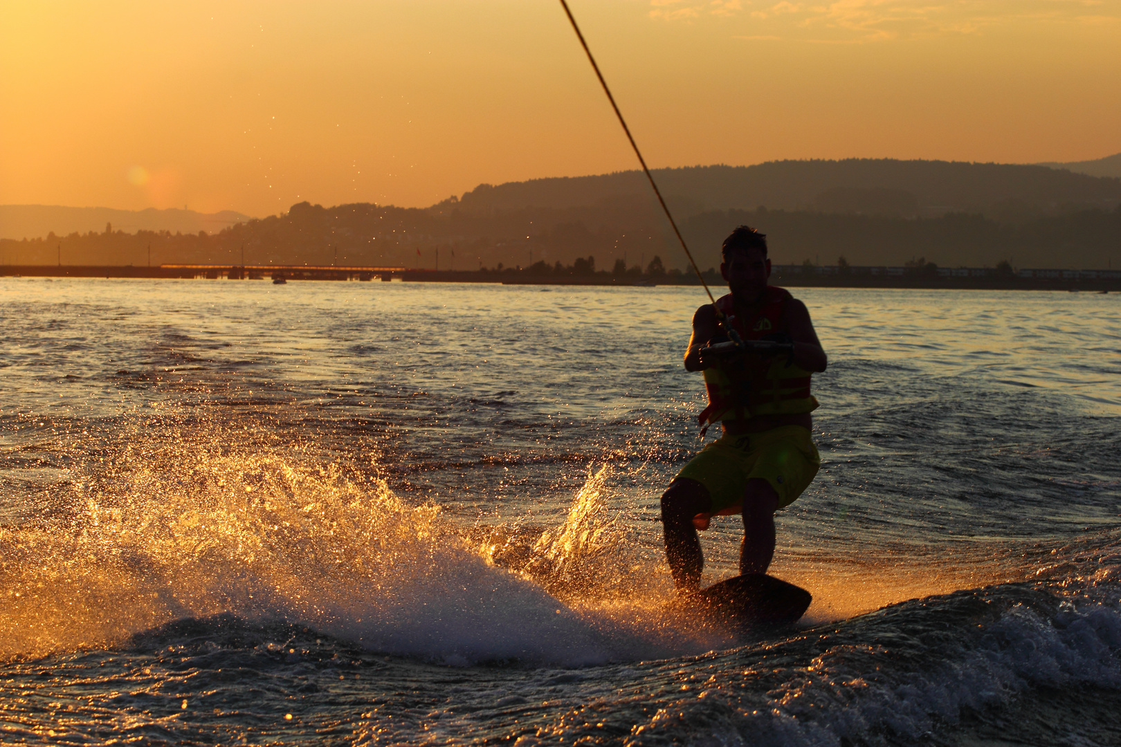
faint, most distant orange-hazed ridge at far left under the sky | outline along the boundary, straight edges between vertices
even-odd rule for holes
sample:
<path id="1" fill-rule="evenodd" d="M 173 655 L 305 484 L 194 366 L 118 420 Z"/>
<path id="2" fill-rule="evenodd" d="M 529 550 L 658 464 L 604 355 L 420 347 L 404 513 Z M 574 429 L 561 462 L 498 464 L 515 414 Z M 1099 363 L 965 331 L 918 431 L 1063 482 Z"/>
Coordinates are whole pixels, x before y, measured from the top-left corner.
<path id="1" fill-rule="evenodd" d="M 59 205 L 0 205 L 0 239 L 39 239 L 48 233 L 66 236 L 72 233 L 102 232 L 111 223 L 114 230 L 170 231 L 172 233 L 217 233 L 248 215 L 222 211 L 196 213 L 177 208 L 157 211 L 118 211 L 111 207 L 63 207 Z"/>

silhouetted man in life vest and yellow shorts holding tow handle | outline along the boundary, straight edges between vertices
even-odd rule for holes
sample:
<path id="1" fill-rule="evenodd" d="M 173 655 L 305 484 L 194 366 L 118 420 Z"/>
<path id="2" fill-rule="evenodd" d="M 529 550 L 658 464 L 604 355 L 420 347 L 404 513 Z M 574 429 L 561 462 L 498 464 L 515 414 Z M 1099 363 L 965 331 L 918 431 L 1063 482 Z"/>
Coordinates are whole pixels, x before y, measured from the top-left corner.
<path id="1" fill-rule="evenodd" d="M 810 439 L 817 400 L 809 375 L 825 371 L 827 358 L 806 305 L 768 286 L 770 272 L 766 235 L 740 226 L 724 240 L 720 264 L 732 292 L 716 305 L 741 339 L 793 343 L 793 351 L 702 356 L 701 348 L 728 339 L 726 330 L 711 304 L 693 315 L 685 368 L 704 372 L 708 408 L 701 421 L 719 422 L 723 436 L 661 496 L 666 557 L 680 594 L 698 588 L 704 557 L 697 530 L 717 514 L 743 513 L 740 572 L 766 573 L 775 554 L 775 511 L 793 503 L 821 465 Z"/>

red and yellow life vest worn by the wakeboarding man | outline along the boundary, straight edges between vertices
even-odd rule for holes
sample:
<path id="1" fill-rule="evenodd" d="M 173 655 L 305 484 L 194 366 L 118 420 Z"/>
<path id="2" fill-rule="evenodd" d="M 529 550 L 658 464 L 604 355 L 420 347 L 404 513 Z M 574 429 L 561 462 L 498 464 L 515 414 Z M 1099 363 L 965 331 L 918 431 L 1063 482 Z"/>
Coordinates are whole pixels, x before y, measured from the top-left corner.
<path id="1" fill-rule="evenodd" d="M 786 289 L 767 286 L 762 301 L 747 319 L 736 315 L 731 293 L 717 299 L 716 307 L 742 339 L 763 339 L 788 334 L 784 311 L 791 298 Z M 794 365 L 787 356 L 748 354 L 739 364 L 719 361 L 704 370 L 708 407 L 697 420 L 707 430 L 712 423 L 725 420 L 812 412 L 818 403 L 809 393 L 809 376 L 810 372 Z"/>

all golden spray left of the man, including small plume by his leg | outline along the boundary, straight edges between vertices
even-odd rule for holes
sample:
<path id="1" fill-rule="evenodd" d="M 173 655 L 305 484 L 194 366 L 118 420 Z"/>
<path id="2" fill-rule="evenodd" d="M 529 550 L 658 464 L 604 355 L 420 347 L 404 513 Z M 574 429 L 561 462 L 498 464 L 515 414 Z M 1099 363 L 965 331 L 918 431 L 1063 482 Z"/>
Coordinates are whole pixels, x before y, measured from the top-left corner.
<path id="1" fill-rule="evenodd" d="M 0 656 L 115 645 L 223 614 L 458 664 L 585 665 L 711 645 L 660 616 L 668 573 L 648 572 L 660 563 L 623 541 L 597 499 L 604 469 L 513 564 L 493 536 L 369 474 L 231 447 L 225 432 L 136 436 L 75 465 L 49 516 L 0 529 Z M 642 577 L 650 594 L 627 601 Z"/>

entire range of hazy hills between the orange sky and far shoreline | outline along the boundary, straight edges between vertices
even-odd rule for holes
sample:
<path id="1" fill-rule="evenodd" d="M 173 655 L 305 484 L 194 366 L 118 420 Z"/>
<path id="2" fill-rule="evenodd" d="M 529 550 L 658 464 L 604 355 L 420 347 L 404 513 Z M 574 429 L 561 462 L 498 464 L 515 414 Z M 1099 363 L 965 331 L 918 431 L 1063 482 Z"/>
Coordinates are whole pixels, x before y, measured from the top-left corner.
<path id="1" fill-rule="evenodd" d="M 720 263 L 720 241 L 739 223 L 766 232 L 780 263 L 832 263 L 844 254 L 851 264 L 925 256 L 943 267 L 1010 260 L 1121 268 L 1115 178 L 1044 166 L 858 159 L 659 169 L 657 178 L 702 269 Z M 645 267 L 658 256 L 666 267 L 686 267 L 638 171 L 480 185 L 426 208 L 299 203 L 243 223 L 237 221 L 244 216 L 226 214 L 224 227 L 138 231 L 132 226 L 146 213 L 115 213 L 120 217 L 98 214 L 93 231 L 49 227 L 50 241 L 0 240 L 0 262 L 145 264 L 150 249 L 152 264 L 234 264 L 244 256 L 250 264 L 435 268 L 438 256 L 442 269 L 465 270 L 594 256 L 602 269 L 618 261 Z M 26 235 L 43 235 L 45 227 Z"/>

